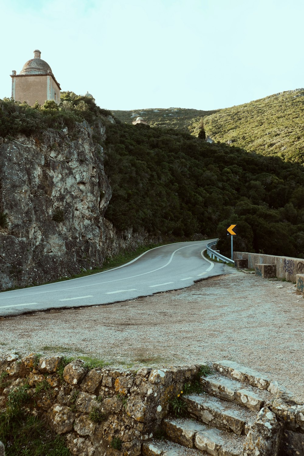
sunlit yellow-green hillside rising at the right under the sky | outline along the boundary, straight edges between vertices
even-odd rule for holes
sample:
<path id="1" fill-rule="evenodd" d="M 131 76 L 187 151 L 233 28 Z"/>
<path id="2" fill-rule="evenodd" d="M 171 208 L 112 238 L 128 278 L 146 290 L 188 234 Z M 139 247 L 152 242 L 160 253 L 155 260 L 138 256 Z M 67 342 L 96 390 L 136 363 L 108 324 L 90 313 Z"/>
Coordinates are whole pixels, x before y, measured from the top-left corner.
<path id="1" fill-rule="evenodd" d="M 221 109 L 204 123 L 215 141 L 304 163 L 303 88 Z"/>

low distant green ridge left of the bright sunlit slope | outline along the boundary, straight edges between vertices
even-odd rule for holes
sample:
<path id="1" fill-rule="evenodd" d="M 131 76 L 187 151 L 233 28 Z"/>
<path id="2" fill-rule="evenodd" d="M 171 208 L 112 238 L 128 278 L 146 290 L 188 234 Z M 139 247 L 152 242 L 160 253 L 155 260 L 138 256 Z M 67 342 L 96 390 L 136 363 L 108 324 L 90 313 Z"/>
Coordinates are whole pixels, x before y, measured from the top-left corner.
<path id="1" fill-rule="evenodd" d="M 126 124 L 132 124 L 136 117 L 143 117 L 151 127 L 170 127 L 185 131 L 193 129 L 193 122 L 201 117 L 214 114 L 214 111 L 199 111 L 197 109 L 168 108 L 168 109 L 135 109 L 133 111 L 112 111 L 117 119 Z"/>

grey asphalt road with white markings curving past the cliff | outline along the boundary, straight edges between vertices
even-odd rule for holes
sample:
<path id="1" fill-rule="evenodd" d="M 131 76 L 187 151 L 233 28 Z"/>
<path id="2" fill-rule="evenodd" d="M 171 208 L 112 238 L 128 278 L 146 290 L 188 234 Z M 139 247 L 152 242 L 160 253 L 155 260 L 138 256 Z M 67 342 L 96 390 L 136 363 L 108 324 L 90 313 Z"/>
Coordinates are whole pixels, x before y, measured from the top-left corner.
<path id="1" fill-rule="evenodd" d="M 214 239 L 215 240 L 215 239 Z M 178 290 L 223 273 L 223 265 L 204 259 L 212 239 L 168 244 L 149 250 L 118 268 L 78 279 L 0 293 L 0 316 L 110 304 Z"/>

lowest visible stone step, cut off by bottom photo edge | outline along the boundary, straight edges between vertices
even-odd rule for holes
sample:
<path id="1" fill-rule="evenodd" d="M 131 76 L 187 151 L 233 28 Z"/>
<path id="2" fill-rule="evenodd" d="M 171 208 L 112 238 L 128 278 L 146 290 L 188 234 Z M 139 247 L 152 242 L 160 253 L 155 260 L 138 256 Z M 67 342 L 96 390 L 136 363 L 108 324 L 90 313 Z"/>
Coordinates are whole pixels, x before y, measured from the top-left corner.
<path id="1" fill-rule="evenodd" d="M 169 440 L 155 439 L 144 442 L 142 454 L 144 456 L 208 456 L 205 451 L 187 448 Z"/>

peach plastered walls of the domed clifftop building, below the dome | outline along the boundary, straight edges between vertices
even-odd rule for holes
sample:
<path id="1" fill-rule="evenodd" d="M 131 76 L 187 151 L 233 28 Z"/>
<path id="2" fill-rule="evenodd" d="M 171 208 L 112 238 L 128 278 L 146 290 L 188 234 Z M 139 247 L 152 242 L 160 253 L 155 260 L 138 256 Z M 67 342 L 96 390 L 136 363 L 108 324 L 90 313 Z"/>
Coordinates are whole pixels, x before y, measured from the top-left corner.
<path id="1" fill-rule="evenodd" d="M 36 100 L 39 104 L 46 100 L 55 100 L 59 104 L 60 90 L 51 75 L 17 75 L 12 76 L 12 98 L 21 103 L 26 101 L 31 106 Z"/>

